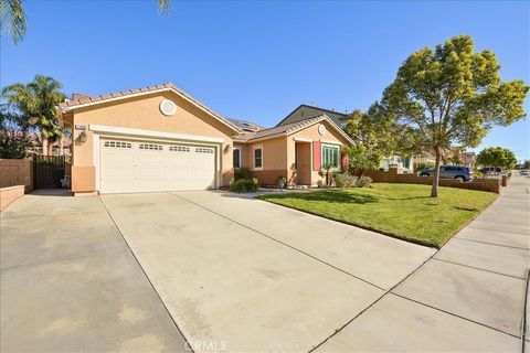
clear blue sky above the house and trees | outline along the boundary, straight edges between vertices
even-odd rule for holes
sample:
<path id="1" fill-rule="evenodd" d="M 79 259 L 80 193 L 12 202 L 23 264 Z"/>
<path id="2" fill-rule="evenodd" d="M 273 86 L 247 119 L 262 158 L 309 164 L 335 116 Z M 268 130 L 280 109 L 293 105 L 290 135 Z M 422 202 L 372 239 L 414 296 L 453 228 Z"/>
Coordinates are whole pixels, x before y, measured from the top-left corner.
<path id="1" fill-rule="evenodd" d="M 24 1 L 28 34 L 1 39 L 0 84 L 40 73 L 67 94 L 168 81 L 230 118 L 273 126 L 299 104 L 367 109 L 412 52 L 456 34 L 490 49 L 504 79 L 530 83 L 528 1 Z M 526 110 L 529 111 L 529 99 Z M 530 120 L 494 128 L 479 149 L 530 159 Z"/>

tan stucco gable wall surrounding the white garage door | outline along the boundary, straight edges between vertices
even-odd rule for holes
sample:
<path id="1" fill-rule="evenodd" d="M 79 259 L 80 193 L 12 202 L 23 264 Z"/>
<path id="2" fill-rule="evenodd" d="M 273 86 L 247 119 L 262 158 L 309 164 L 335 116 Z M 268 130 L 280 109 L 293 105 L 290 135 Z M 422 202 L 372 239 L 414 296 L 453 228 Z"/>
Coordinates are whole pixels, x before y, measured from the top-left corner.
<path id="1" fill-rule="evenodd" d="M 163 99 L 170 99 L 177 105 L 177 113 L 173 116 L 167 117 L 160 113 L 159 105 Z M 227 185 L 233 178 L 232 149 L 225 150 L 226 145 L 232 146 L 232 135 L 234 133 L 232 129 L 172 92 L 155 93 L 80 108 L 74 111 L 72 122 L 74 126 L 85 125 L 87 133 L 85 142 L 80 142 L 77 139 L 81 130 L 74 129 L 73 133 L 72 190 L 74 192 L 76 191 L 74 185 L 95 184 L 95 172 L 91 174 L 86 172 L 88 169 L 75 168 L 94 167 L 94 132 L 88 129 L 91 124 L 222 138 L 224 142 L 221 147 L 220 184 Z M 92 180 L 85 180 L 87 178 Z M 75 181 L 76 179 L 77 181 Z"/>

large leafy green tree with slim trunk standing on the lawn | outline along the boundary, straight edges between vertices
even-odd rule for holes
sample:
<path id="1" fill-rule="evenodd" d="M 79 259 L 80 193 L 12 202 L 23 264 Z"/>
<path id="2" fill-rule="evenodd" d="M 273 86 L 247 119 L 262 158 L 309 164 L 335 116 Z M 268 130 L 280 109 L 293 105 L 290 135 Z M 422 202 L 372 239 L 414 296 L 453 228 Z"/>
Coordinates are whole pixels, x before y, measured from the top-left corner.
<path id="1" fill-rule="evenodd" d="M 476 147 L 494 125 L 526 117 L 529 87 L 502 82 L 495 54 L 476 53 L 473 39 L 457 35 L 435 50 L 426 46 L 401 65 L 394 82 L 374 104 L 406 138 L 435 156 L 432 197 L 438 195 L 439 163 L 452 145 Z"/>

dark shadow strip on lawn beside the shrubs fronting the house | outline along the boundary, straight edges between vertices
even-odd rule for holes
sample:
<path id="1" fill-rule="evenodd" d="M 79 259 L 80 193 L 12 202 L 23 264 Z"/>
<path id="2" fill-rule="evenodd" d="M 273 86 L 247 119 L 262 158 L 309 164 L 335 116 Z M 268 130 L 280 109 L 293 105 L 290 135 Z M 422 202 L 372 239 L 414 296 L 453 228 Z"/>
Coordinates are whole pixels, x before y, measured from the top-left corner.
<path id="1" fill-rule="evenodd" d="M 315 192 L 299 192 L 299 193 L 285 193 L 276 195 L 264 195 L 258 196 L 258 199 L 264 200 L 300 200 L 300 201 L 316 201 L 316 202 L 329 202 L 329 203 L 356 203 L 356 204 L 365 204 L 365 203 L 375 203 L 379 202 L 379 199 L 370 194 L 357 194 L 350 193 L 342 190 L 324 190 Z"/>

